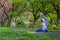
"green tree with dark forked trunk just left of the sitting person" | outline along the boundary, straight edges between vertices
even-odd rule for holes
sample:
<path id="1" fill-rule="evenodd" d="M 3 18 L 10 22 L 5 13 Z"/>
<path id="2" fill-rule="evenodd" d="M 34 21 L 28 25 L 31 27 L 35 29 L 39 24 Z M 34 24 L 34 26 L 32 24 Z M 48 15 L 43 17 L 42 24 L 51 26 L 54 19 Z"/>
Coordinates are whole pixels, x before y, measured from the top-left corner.
<path id="1" fill-rule="evenodd" d="M 50 9 L 50 4 L 47 0 L 28 0 L 27 7 L 30 12 L 32 12 L 32 15 L 34 17 L 34 23 L 36 24 L 36 21 L 40 17 L 40 13 L 47 15 L 52 10 Z"/>

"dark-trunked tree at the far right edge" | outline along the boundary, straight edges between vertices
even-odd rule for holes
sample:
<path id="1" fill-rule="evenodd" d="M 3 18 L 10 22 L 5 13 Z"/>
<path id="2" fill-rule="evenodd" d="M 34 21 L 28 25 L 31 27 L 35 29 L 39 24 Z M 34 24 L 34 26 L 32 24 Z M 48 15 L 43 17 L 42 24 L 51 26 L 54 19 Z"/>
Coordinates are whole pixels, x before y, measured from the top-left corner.
<path id="1" fill-rule="evenodd" d="M 60 25 L 60 0 L 50 0 L 50 4 L 57 13 L 57 25 Z"/>

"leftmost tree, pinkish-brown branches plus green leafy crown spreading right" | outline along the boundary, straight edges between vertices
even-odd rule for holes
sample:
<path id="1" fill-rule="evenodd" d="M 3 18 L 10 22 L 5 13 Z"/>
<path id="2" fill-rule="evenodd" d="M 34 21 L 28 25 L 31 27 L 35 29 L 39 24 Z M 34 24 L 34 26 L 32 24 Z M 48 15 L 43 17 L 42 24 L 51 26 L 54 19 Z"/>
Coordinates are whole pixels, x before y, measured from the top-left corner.
<path id="1" fill-rule="evenodd" d="M 20 13 L 24 12 L 25 9 L 25 0 L 12 0 L 11 3 L 9 3 L 8 0 L 4 0 L 4 2 L 1 2 L 0 0 L 0 6 L 2 8 L 2 15 L 1 15 L 1 26 L 10 26 L 11 20 L 13 17 L 20 15 Z M 7 4 L 8 4 L 8 7 Z M 10 5 L 9 5 L 10 4 Z M 10 7 L 11 6 L 11 7 Z M 10 8 L 9 8 L 10 7 Z M 8 9 L 9 10 L 8 10 Z M 7 21 L 7 22 L 5 22 Z"/>

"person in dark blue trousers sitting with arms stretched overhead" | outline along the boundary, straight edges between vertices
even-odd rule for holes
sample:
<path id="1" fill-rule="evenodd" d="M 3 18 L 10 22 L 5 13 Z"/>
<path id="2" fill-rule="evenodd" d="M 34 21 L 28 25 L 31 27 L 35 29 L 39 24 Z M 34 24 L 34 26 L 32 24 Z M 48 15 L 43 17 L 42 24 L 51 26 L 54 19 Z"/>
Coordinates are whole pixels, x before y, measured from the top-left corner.
<path id="1" fill-rule="evenodd" d="M 41 13 L 40 19 L 42 22 L 42 28 L 39 30 L 36 30 L 36 32 L 48 32 L 47 27 L 48 27 L 48 20 L 45 15 Z"/>

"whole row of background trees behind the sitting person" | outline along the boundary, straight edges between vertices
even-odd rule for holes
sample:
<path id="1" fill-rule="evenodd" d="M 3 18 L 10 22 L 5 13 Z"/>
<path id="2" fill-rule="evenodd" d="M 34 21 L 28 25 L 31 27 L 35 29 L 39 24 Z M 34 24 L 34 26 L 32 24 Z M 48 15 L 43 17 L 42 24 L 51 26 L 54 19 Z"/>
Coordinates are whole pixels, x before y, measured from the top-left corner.
<path id="1" fill-rule="evenodd" d="M 6 2 L 7 0 L 5 0 Z M 5 2 L 2 4 L 0 1 L 0 8 L 2 8 L 1 25 L 10 26 L 12 19 L 21 18 L 22 15 L 30 15 L 32 18 L 32 25 L 36 25 L 38 20 L 40 22 L 40 13 L 42 12 L 48 19 L 49 25 L 60 26 L 60 1 L 59 0 L 12 0 L 8 2 L 8 10 L 5 7 Z M 6 4 L 7 5 L 7 4 Z M 27 12 L 27 13 L 26 13 Z M 25 14 L 23 14 L 25 13 Z M 20 20 L 20 19 L 19 19 Z M 24 21 L 28 19 L 22 19 Z M 29 21 L 29 20 L 28 20 Z M 31 19 L 30 19 L 31 21 Z M 38 22 L 38 23 L 39 23 Z M 19 24 L 20 25 L 20 24 Z"/>

